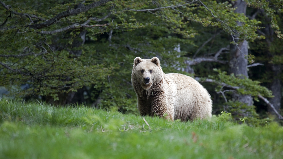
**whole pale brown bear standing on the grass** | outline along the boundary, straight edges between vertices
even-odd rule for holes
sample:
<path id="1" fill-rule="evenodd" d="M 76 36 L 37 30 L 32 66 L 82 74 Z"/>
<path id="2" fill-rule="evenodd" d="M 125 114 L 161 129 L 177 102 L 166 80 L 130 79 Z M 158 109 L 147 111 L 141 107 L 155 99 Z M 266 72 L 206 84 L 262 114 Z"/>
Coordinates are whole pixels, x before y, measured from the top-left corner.
<path id="1" fill-rule="evenodd" d="M 181 121 L 211 118 L 212 100 L 207 90 L 189 76 L 164 74 L 157 57 L 134 59 L 132 85 L 142 116 L 167 114 L 166 119 Z"/>

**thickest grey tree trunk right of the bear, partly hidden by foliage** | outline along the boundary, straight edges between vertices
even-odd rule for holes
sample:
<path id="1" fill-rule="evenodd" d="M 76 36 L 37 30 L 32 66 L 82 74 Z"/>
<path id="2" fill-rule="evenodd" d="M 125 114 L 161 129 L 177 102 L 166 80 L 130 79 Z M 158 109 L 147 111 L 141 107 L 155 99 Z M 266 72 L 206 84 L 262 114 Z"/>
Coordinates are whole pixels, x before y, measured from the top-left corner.
<path id="1" fill-rule="evenodd" d="M 235 12 L 243 13 L 246 15 L 246 3 L 242 0 L 235 1 L 233 7 L 236 8 Z M 238 22 L 238 25 L 242 25 Z M 231 37 L 232 38 L 232 37 Z M 235 40 L 237 37 L 234 37 Z M 237 42 L 237 41 L 235 41 Z M 238 49 L 240 48 L 240 50 Z M 247 65 L 248 61 L 245 59 L 245 55 L 248 55 L 248 42 L 244 40 L 238 47 L 234 44 L 230 45 L 230 61 L 229 61 L 229 68 L 230 73 L 233 73 L 238 78 L 248 78 L 248 70 Z M 250 95 L 239 95 L 233 94 L 233 99 L 238 100 L 239 102 L 246 103 L 248 106 L 253 105 L 253 98 Z"/>

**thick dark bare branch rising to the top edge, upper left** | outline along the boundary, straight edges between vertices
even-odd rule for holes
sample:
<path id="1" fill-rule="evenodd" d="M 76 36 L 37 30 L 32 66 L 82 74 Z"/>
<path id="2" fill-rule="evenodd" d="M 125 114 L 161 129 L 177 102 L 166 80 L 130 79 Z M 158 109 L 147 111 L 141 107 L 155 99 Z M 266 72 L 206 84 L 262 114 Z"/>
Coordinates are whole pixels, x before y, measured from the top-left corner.
<path id="1" fill-rule="evenodd" d="M 86 12 L 87 10 L 89 10 L 91 8 L 98 7 L 98 6 L 103 5 L 103 4 L 110 2 L 110 1 L 113 1 L 113 0 L 100 0 L 100 1 L 97 1 L 97 2 L 93 2 L 90 5 L 81 7 L 81 8 L 67 10 L 67 11 L 64 11 L 64 12 L 57 14 L 55 17 L 53 17 L 53 18 L 51 18 L 51 19 L 49 19 L 49 20 L 47 20 L 43 23 L 29 25 L 28 27 L 30 27 L 32 29 L 41 29 L 41 28 L 44 28 L 44 27 L 48 27 L 48 26 L 52 25 L 53 23 L 55 23 L 56 21 L 60 20 L 61 18 L 65 18 L 65 17 L 73 15 L 73 14 Z"/>

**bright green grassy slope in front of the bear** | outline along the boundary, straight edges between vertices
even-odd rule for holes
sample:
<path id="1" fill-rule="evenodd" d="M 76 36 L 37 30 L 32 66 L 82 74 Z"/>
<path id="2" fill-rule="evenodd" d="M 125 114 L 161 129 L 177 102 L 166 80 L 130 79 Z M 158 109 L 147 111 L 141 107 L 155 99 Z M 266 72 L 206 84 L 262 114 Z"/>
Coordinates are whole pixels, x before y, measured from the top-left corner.
<path id="1" fill-rule="evenodd" d="M 283 128 L 0 101 L 0 158 L 282 158 Z"/>

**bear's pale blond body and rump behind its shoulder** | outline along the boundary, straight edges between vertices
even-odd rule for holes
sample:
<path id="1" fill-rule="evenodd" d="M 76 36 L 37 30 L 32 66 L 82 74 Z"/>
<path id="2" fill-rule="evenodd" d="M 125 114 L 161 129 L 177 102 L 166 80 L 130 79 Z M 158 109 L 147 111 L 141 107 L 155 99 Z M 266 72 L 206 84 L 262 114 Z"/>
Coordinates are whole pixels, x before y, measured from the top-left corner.
<path id="1" fill-rule="evenodd" d="M 207 90 L 194 78 L 178 73 L 163 75 L 168 98 L 174 103 L 175 119 L 186 121 L 195 116 L 211 116 L 212 101 Z M 204 114 L 192 114 L 193 109 L 204 110 Z"/>

